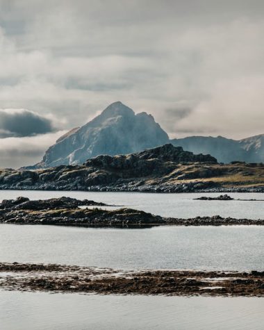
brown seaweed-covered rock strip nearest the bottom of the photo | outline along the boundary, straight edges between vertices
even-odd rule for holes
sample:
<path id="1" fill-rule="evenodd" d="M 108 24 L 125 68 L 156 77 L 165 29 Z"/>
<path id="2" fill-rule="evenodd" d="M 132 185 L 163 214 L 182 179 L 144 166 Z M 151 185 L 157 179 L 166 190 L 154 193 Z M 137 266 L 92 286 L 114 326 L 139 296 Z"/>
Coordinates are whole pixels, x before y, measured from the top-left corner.
<path id="1" fill-rule="evenodd" d="M 138 270 L 0 263 L 4 290 L 121 295 L 263 297 L 264 272 Z"/>

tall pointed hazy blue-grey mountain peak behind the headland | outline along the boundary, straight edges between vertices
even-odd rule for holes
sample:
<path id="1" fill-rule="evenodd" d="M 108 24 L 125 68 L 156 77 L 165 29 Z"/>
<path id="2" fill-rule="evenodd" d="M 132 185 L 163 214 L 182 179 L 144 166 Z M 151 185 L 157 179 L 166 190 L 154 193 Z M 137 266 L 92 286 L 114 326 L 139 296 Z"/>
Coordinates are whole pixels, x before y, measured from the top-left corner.
<path id="1" fill-rule="evenodd" d="M 59 138 L 46 151 L 43 160 L 32 168 L 81 164 L 101 154 L 130 154 L 167 142 L 167 133 L 154 117 L 147 113 L 135 114 L 117 101 L 88 124 Z"/>

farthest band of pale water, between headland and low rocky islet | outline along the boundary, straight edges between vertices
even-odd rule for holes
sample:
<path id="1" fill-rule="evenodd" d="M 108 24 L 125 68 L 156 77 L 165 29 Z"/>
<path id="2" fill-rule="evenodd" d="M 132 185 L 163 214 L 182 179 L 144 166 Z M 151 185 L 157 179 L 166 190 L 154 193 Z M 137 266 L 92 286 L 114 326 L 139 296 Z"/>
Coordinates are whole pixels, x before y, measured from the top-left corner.
<path id="1" fill-rule="evenodd" d="M 264 201 L 197 201 L 201 196 L 221 194 L 154 194 L 142 192 L 80 192 L 80 191 L 30 191 L 0 190 L 1 199 L 18 196 L 30 199 L 48 199 L 69 196 L 77 199 L 92 199 L 106 204 L 129 206 L 138 210 L 163 215 L 165 217 L 196 217 L 197 215 L 221 215 L 249 219 L 264 219 Z M 261 193 L 230 193 L 236 199 L 264 199 Z"/>

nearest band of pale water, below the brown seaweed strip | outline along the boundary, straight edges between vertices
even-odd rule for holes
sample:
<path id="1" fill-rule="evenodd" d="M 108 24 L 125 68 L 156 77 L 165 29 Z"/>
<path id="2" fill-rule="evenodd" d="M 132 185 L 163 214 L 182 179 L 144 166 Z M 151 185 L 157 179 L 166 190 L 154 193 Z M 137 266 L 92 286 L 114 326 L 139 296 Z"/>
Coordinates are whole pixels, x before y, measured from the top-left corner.
<path id="1" fill-rule="evenodd" d="M 264 299 L 0 291 L 0 320 L 1 330 L 261 330 Z"/>

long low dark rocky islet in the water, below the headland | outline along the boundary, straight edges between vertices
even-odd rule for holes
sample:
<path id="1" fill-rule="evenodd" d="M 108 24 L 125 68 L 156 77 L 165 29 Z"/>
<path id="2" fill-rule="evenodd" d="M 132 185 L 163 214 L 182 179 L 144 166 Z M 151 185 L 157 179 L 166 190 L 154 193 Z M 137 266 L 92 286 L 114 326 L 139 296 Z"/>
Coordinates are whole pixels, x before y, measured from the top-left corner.
<path id="1" fill-rule="evenodd" d="M 83 208 L 80 208 L 83 206 Z M 85 206 L 93 206 L 92 208 Z M 98 206 L 98 207 L 97 207 Z M 99 208 L 102 206 L 102 208 Z M 30 201 L 25 197 L 4 200 L 0 204 L 0 223 L 6 224 L 53 224 L 69 226 L 220 226 L 220 225 L 263 225 L 264 220 L 236 219 L 232 217 L 160 217 L 132 208 L 104 209 L 106 204 L 95 201 L 61 197 Z"/>

